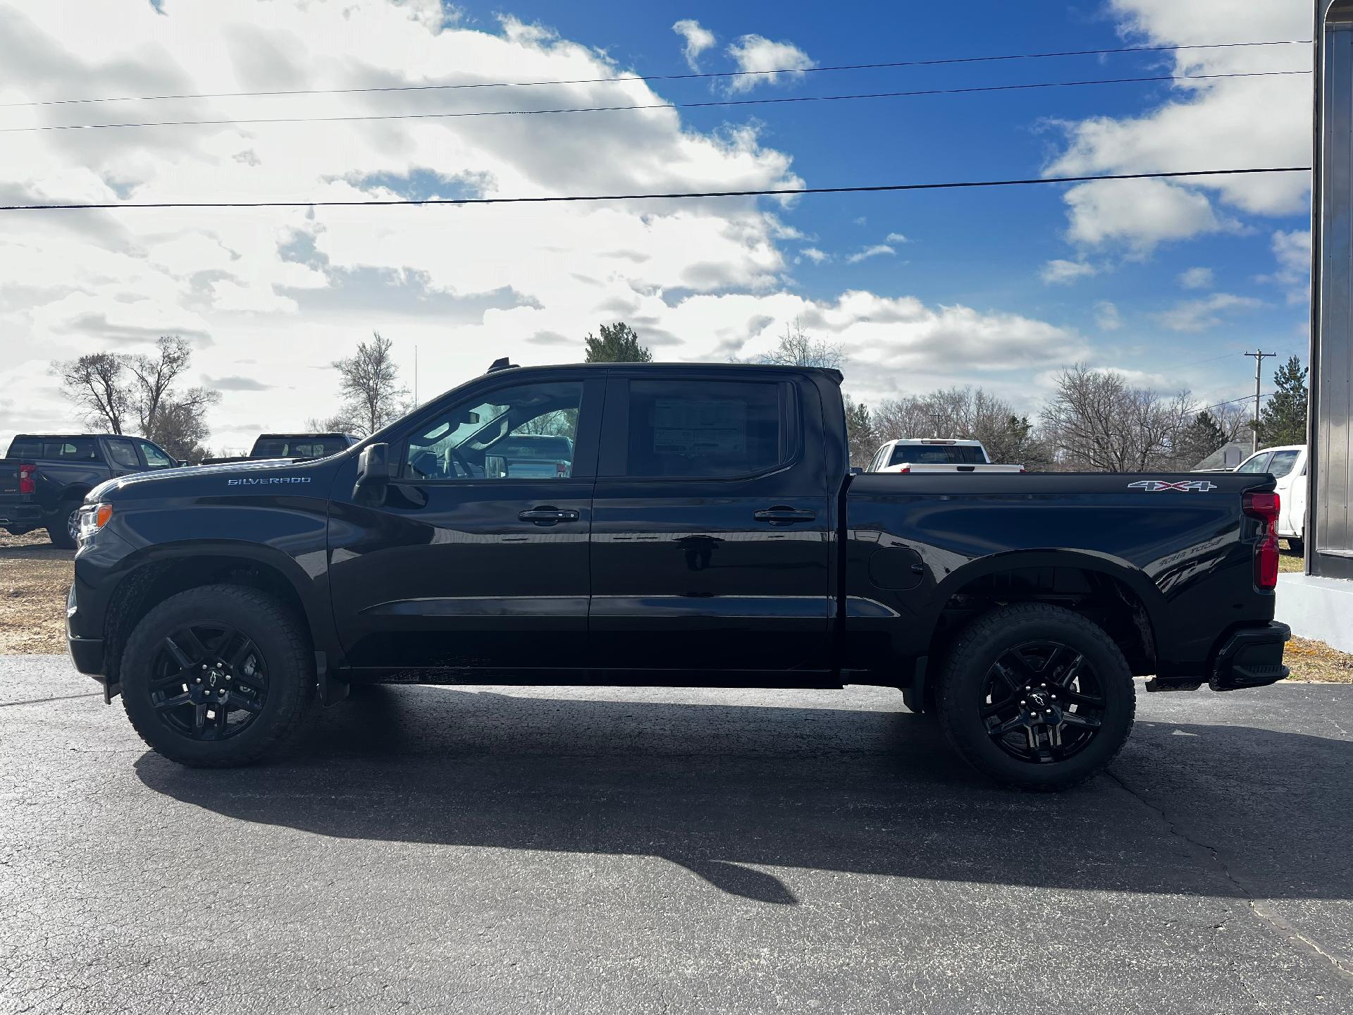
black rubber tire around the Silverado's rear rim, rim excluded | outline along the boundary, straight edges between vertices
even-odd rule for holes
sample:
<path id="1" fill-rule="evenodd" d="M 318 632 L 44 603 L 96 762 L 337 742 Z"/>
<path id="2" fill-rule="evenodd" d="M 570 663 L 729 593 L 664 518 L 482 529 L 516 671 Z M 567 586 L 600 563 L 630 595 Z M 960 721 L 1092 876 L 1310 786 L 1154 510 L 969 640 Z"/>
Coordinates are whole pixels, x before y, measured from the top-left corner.
<path id="1" fill-rule="evenodd" d="M 1103 725 L 1084 750 L 1059 762 L 1035 765 L 1005 754 L 981 719 L 981 689 L 996 659 L 1030 641 L 1053 640 L 1084 654 L 1104 685 Z M 1122 650 L 1103 628 L 1047 604 L 1001 606 L 969 624 L 954 640 L 938 675 L 939 720 L 963 761 L 1004 786 L 1063 790 L 1105 769 L 1132 729 L 1137 694 Z"/>

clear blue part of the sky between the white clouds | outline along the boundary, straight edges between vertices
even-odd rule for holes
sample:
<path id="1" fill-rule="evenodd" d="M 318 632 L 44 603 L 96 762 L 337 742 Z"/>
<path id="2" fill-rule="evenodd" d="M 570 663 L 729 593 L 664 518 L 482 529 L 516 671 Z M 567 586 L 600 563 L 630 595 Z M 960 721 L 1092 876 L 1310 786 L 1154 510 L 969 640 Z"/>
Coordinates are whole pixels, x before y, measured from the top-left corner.
<path id="1" fill-rule="evenodd" d="M 490 18 L 492 7 L 464 4 L 469 18 Z M 946 4 L 782 4 L 782 3 L 649 3 L 517 4 L 514 12 L 540 19 L 560 34 L 586 39 L 640 73 L 687 70 L 681 41 L 671 24 L 694 19 L 714 32 L 718 43 L 701 58 L 704 70 L 732 70 L 724 47 L 746 34 L 796 43 L 819 65 L 869 64 L 912 58 L 946 58 L 1013 53 L 1111 49 L 1151 42 L 1124 31 L 1120 11 L 1104 3 L 1019 4 L 977 0 Z M 1015 14 L 1017 11 L 1017 14 Z M 1298 19 L 1300 24 L 1300 19 Z M 1207 41 L 1258 41 L 1246 26 L 1220 20 Z M 1239 34 L 1237 34 L 1239 32 Z M 1306 32 L 1291 35 L 1304 38 Z M 1192 41 L 1192 39 L 1191 39 Z M 1157 45 L 1160 45 L 1157 42 Z M 1257 47 L 1243 51 L 1239 69 L 1302 66 L 1306 46 Z M 970 88 L 1034 81 L 1076 81 L 1105 77 L 1169 74 L 1173 53 L 1084 55 L 931 68 L 804 74 L 762 95 L 833 95 L 925 88 Z M 1230 68 L 1229 68 L 1230 69 Z M 664 81 L 664 96 L 701 102 L 721 95 L 714 78 Z M 725 122 L 756 120 L 766 143 L 794 158 L 794 172 L 809 185 L 894 181 L 1032 177 L 1065 149 L 1058 122 L 1093 116 L 1130 118 L 1166 103 L 1170 84 L 1114 84 L 1084 88 L 1034 89 L 961 96 L 921 96 L 839 103 L 801 103 L 746 108 L 683 111 L 706 130 Z M 736 97 L 736 96 L 735 96 Z M 1306 116 L 1308 110 L 1284 111 Z M 1266 152 L 1254 152 L 1253 164 Z M 1296 160 L 1289 160 L 1296 161 Z M 1304 164 L 1304 161 L 1303 161 Z M 1178 169 L 1224 168 L 1215 158 L 1181 160 Z M 831 261 L 796 265 L 796 281 L 815 296 L 842 288 L 916 294 L 939 303 L 965 303 L 985 310 L 1009 310 L 1096 333 L 1096 304 L 1112 302 L 1123 326 L 1103 334 L 1105 359 L 1120 351 L 1119 365 L 1141 365 L 1141 357 L 1165 368 L 1187 360 L 1253 349 L 1262 345 L 1284 356 L 1306 356 L 1308 309 L 1288 302 L 1283 290 L 1261 280 L 1275 273 L 1272 233 L 1304 230 L 1308 211 L 1287 215 L 1239 215 L 1234 231 L 1164 244 L 1147 257 L 1107 252 L 1111 271 L 1076 286 L 1039 284 L 1031 269 L 1054 258 L 1077 257 L 1065 237 L 1065 187 L 1000 191 L 958 191 L 901 195 L 823 195 L 804 199 L 786 215 L 832 254 Z M 847 257 L 889 234 L 894 254 L 848 264 Z M 1187 288 L 1178 276 L 1207 268 L 1212 284 Z M 1168 313 L 1181 299 L 1224 291 L 1262 300 L 1243 307 L 1223 323 L 1200 332 L 1172 332 L 1151 315 Z M 1235 355 L 1207 365 L 1208 382 L 1233 384 L 1243 394 L 1253 360 Z"/>

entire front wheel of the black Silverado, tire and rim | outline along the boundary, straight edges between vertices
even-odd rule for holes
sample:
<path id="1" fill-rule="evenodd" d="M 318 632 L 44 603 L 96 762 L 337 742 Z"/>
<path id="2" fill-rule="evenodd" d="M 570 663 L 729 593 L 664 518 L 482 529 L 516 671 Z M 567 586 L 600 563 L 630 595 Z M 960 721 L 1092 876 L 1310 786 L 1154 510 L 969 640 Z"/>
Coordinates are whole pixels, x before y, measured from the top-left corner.
<path id="1" fill-rule="evenodd" d="M 315 694 L 304 628 L 257 589 L 208 585 L 150 610 L 122 656 L 127 719 L 154 751 L 193 767 L 257 761 Z"/>

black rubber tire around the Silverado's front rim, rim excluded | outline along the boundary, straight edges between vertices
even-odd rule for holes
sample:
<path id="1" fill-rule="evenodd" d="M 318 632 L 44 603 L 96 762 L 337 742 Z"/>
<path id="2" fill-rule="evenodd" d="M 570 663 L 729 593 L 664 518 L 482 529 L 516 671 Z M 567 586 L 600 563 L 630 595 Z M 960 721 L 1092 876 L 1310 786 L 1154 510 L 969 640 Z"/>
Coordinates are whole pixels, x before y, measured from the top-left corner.
<path id="1" fill-rule="evenodd" d="M 268 666 L 268 694 L 248 729 L 193 740 L 161 721 L 150 694 L 164 639 L 184 624 L 216 621 L 245 632 Z M 122 704 L 141 739 L 169 761 L 202 769 L 249 765 L 283 744 L 315 698 L 314 654 L 300 618 L 283 602 L 242 585 L 206 585 L 170 595 L 133 629 L 122 655 Z"/>

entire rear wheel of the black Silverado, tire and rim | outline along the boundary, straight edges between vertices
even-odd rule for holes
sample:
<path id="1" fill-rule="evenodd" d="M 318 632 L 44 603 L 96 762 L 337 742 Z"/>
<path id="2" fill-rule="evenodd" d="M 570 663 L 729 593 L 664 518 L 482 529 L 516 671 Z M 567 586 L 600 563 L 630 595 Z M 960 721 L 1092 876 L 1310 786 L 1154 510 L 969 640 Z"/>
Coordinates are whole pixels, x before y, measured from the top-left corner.
<path id="1" fill-rule="evenodd" d="M 1047 604 L 1003 606 L 954 641 L 939 686 L 950 743 L 978 771 L 1019 789 L 1084 782 L 1123 748 L 1137 708 L 1118 644 Z"/>

